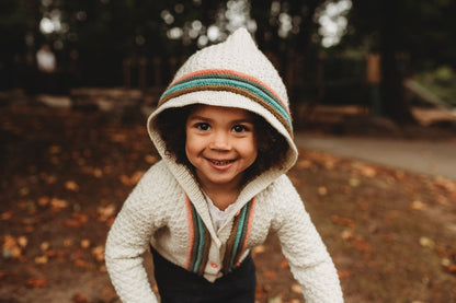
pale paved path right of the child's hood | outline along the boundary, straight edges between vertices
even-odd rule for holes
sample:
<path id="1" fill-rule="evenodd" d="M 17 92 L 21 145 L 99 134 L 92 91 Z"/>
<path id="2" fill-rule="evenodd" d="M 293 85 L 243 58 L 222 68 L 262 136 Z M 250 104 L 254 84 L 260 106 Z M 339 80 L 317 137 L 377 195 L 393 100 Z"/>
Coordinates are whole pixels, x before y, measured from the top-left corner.
<path id="1" fill-rule="evenodd" d="M 297 133 L 298 147 L 456 180 L 456 142 L 316 137 Z"/>

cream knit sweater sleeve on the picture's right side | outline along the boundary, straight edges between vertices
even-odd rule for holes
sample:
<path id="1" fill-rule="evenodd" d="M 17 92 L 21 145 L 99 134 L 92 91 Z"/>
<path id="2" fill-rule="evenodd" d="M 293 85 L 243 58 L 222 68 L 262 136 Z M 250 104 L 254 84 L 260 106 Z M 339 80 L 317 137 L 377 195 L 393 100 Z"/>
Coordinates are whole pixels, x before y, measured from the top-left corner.
<path id="1" fill-rule="evenodd" d="M 343 302 L 338 272 L 304 203 L 287 177 L 280 180 L 275 230 L 307 303 Z M 284 194 L 284 191 L 286 194 Z"/>

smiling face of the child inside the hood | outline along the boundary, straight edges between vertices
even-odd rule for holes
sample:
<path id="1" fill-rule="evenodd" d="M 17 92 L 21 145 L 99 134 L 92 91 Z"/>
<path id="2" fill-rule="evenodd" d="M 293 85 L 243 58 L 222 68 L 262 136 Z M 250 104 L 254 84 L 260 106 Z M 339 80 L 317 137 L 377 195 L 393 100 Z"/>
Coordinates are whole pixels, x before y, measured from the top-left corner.
<path id="1" fill-rule="evenodd" d="M 240 108 L 198 105 L 185 124 L 185 152 L 203 188 L 240 188 L 258 155 L 252 115 Z"/>

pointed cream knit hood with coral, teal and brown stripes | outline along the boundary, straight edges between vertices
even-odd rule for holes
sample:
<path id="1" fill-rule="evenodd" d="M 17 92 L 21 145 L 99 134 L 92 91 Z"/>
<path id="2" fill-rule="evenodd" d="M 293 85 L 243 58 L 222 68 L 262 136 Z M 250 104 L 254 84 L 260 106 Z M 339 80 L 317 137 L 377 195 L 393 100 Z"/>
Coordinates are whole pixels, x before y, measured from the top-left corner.
<path id="1" fill-rule="evenodd" d="M 192 199 L 192 195 L 200 195 L 197 191 L 201 191 L 194 189 L 193 175 L 185 165 L 176 164 L 166 152 L 166 144 L 155 127 L 155 119 L 163 110 L 191 104 L 253 112 L 263 117 L 289 144 L 287 154 L 283 155 L 285 161 L 282 167 L 274 167 L 251 180 L 239 196 L 240 205 L 263 190 L 296 162 L 297 149 L 293 142 L 285 85 L 246 28 L 236 31 L 224 43 L 208 46 L 191 56 L 178 70 L 148 119 L 148 131 L 153 144 Z"/>

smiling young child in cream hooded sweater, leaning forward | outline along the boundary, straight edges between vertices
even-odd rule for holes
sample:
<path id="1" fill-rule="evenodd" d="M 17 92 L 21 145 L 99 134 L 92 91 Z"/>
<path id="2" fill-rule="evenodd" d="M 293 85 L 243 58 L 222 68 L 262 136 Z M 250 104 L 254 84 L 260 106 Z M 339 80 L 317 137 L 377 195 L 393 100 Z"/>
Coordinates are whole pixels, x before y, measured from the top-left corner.
<path id="1" fill-rule="evenodd" d="M 106 243 L 123 302 L 254 302 L 250 250 L 276 233 L 306 302 L 342 302 L 334 265 L 285 173 L 297 159 L 285 85 L 238 30 L 182 66 L 148 119 L 162 160 L 140 179 Z"/>

